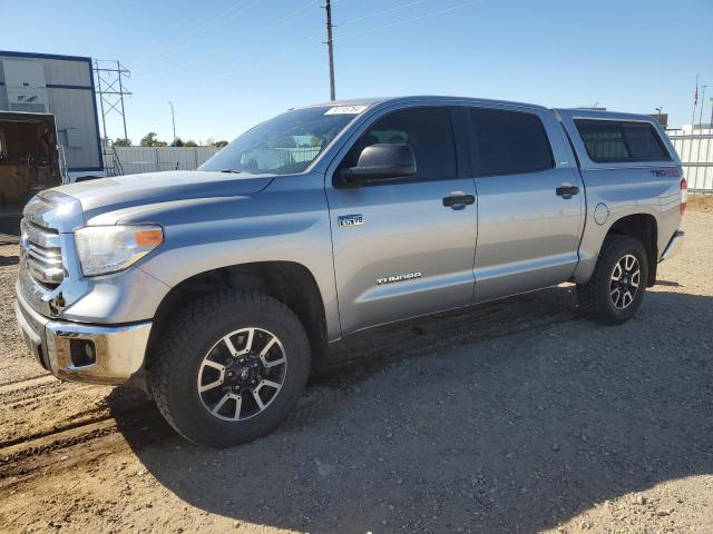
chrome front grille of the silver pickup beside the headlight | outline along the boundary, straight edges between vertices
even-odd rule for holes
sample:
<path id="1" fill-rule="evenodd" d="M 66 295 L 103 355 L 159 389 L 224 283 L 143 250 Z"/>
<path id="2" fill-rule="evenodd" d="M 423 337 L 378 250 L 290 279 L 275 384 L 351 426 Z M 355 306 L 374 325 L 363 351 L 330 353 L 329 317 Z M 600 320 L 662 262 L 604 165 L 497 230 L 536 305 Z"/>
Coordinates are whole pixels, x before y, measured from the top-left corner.
<path id="1" fill-rule="evenodd" d="M 59 233 L 36 222 L 22 220 L 22 259 L 35 280 L 48 289 L 59 286 L 65 279 L 62 249 Z"/>

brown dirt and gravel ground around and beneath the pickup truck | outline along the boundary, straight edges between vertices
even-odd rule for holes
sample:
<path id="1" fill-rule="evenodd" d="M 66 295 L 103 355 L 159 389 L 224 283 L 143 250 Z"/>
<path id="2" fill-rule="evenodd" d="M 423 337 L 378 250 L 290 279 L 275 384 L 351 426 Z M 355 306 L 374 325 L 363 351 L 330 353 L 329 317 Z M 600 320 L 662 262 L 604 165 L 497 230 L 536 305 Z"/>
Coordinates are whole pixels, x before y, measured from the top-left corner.
<path id="1" fill-rule="evenodd" d="M 711 533 L 713 214 L 684 229 L 626 325 L 558 287 L 370 330 L 224 451 L 42 374 L 0 247 L 0 532 Z"/>

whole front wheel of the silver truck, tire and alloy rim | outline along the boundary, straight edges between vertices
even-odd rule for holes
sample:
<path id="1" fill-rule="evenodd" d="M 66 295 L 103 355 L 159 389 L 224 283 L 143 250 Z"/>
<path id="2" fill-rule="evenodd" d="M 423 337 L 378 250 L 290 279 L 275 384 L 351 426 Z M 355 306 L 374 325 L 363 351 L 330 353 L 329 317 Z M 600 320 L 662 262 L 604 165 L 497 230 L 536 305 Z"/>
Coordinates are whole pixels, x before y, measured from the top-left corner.
<path id="1" fill-rule="evenodd" d="M 256 293 L 213 294 L 172 320 L 149 377 L 159 411 L 179 434 L 225 447 L 282 422 L 310 370 L 307 337 L 290 308 Z"/>

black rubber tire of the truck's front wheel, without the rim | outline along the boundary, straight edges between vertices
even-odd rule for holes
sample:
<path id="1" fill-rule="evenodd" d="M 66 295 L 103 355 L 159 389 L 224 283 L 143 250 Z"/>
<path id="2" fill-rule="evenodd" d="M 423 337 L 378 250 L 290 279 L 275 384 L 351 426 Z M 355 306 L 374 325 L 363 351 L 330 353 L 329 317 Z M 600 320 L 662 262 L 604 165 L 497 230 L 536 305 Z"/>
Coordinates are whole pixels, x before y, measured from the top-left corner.
<path id="1" fill-rule="evenodd" d="M 261 293 L 215 293 L 170 320 L 150 356 L 148 383 L 158 409 L 176 432 L 199 445 L 228 447 L 270 433 L 285 418 L 310 373 L 307 336 L 287 306 Z M 221 421 L 203 405 L 197 376 L 211 347 L 242 327 L 274 333 L 284 347 L 287 369 L 282 389 L 262 413 L 244 421 Z"/>

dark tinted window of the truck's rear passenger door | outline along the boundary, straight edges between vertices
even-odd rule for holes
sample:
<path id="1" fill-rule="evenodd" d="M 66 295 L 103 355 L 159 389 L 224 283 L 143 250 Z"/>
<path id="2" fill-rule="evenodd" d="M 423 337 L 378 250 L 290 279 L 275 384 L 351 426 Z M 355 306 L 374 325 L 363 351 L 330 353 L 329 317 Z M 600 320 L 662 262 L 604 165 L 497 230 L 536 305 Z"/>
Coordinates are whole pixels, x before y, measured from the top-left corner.
<path id="1" fill-rule="evenodd" d="M 477 176 L 537 172 L 554 167 L 553 151 L 538 117 L 519 111 L 471 108 Z"/>

